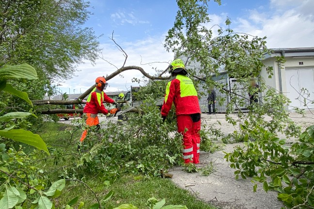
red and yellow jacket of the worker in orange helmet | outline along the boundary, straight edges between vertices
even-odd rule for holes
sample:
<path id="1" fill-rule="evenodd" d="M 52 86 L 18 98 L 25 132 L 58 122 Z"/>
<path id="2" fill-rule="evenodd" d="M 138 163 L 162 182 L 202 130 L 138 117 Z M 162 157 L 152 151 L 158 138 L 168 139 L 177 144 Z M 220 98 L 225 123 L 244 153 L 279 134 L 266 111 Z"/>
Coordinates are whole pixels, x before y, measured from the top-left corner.
<path id="1" fill-rule="evenodd" d="M 114 100 L 107 96 L 101 89 L 95 87 L 88 96 L 83 112 L 97 114 L 99 111 L 107 114 L 109 111 L 105 108 L 103 101 L 107 103 L 114 103 Z"/>

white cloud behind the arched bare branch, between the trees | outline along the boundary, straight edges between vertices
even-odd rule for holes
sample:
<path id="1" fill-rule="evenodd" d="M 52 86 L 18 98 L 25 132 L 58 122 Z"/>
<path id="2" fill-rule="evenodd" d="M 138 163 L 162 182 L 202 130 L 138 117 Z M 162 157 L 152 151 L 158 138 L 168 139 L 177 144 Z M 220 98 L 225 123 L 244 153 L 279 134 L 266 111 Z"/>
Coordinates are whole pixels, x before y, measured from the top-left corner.
<path id="1" fill-rule="evenodd" d="M 171 60 L 173 60 L 173 53 L 168 53 L 164 49 L 162 44 L 163 40 L 164 37 L 162 36 L 150 37 L 135 42 L 118 43 L 128 55 L 125 66 L 140 66 L 150 75 L 155 74 L 155 70 L 152 68 L 165 70 L 169 66 Z M 125 57 L 122 52 L 117 49 L 114 43 L 103 44 L 101 47 L 103 48 L 102 55 L 105 60 L 110 61 L 110 63 L 118 68 L 122 67 Z M 80 64 L 78 66 L 78 70 L 80 71 L 76 73 L 77 76 L 62 83 L 63 86 L 60 86 L 62 87 L 60 89 L 62 89 L 63 92 L 69 92 L 69 88 L 71 93 L 73 93 L 73 89 L 75 89 L 77 93 L 79 92 L 79 89 L 81 89 L 81 92 L 84 92 L 94 84 L 96 77 L 110 75 L 115 72 L 117 69 L 105 60 L 98 59 L 95 66 L 89 62 Z M 142 77 L 140 71 L 129 70 L 123 72 L 121 75 L 123 77 L 117 75 L 108 81 L 109 86 L 107 87 L 107 90 L 121 91 L 129 89 L 130 86 L 140 85 L 131 82 L 133 77 Z"/>

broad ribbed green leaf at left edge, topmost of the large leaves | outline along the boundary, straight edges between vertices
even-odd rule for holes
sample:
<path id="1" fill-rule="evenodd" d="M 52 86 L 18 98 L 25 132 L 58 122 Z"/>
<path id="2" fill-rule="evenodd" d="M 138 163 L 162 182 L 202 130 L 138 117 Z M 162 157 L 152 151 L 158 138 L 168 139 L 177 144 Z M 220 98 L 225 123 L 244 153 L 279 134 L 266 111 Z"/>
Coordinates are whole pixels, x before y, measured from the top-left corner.
<path id="1" fill-rule="evenodd" d="M 25 78 L 28 80 L 38 79 L 35 68 L 29 64 L 4 65 L 0 68 L 0 78 L 16 79 Z"/>

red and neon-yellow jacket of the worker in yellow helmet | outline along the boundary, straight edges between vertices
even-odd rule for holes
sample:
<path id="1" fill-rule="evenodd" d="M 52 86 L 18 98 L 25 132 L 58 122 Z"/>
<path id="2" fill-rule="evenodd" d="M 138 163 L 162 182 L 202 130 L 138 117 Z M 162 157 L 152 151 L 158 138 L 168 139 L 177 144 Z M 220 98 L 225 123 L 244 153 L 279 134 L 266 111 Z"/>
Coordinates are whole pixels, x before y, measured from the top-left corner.
<path id="1" fill-rule="evenodd" d="M 197 92 L 191 79 L 185 75 L 173 76 L 167 84 L 164 104 L 161 115 L 167 116 L 172 104 L 176 115 L 189 115 L 201 113 Z"/>

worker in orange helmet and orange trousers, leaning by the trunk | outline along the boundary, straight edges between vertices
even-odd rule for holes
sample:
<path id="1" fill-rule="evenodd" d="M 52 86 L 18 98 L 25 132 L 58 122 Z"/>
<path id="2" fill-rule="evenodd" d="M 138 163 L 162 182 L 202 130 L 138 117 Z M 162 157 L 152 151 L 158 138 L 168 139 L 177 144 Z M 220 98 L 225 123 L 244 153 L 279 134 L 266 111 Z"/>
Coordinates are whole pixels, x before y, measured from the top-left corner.
<path id="1" fill-rule="evenodd" d="M 104 90 L 107 88 L 108 83 L 106 83 L 106 79 L 104 77 L 97 77 L 95 82 L 96 87 L 88 96 L 83 113 L 85 113 L 87 116 L 86 125 L 97 126 L 97 129 L 99 129 L 100 125 L 98 112 L 106 115 L 107 118 L 111 116 L 110 112 L 105 108 L 103 101 L 115 104 L 116 106 L 119 106 L 119 104 L 105 94 Z M 83 140 L 85 139 L 86 134 L 87 130 L 84 130 L 80 138 L 81 142 L 83 142 Z"/>

